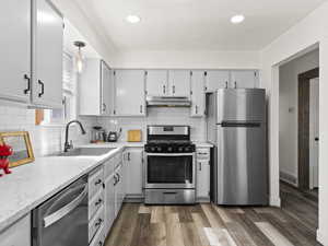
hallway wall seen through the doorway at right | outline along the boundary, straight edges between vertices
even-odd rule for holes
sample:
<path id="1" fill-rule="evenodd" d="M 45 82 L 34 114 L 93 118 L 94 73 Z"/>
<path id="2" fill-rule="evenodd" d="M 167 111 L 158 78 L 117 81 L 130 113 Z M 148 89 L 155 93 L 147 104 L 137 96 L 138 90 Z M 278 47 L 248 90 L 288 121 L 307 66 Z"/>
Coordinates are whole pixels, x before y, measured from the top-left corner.
<path id="1" fill-rule="evenodd" d="M 297 181 L 298 74 L 319 67 L 316 49 L 280 67 L 279 164 L 280 173 Z M 281 176 L 282 177 L 282 176 Z M 297 184 L 297 183 L 296 183 Z M 295 184 L 295 185 L 296 185 Z"/>

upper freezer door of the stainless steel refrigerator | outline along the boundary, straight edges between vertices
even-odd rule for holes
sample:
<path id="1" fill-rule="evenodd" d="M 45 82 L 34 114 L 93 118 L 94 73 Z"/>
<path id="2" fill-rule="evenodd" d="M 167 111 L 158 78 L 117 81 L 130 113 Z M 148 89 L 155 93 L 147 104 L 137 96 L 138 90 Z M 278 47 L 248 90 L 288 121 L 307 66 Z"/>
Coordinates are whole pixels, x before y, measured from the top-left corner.
<path id="1" fill-rule="evenodd" d="M 266 121 L 266 91 L 262 89 L 220 89 L 216 97 L 218 124 Z"/>

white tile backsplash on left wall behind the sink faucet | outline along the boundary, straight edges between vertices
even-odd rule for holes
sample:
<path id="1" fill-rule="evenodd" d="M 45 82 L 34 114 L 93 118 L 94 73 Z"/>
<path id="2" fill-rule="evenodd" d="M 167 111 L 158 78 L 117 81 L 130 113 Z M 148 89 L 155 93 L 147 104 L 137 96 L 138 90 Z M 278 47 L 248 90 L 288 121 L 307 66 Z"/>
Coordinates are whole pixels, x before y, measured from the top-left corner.
<path id="1" fill-rule="evenodd" d="M 90 141 L 91 128 L 95 122 L 92 117 L 79 118 L 85 127 L 86 134 L 79 127 L 71 127 L 70 139 L 74 144 Z M 35 110 L 26 107 L 0 105 L 0 131 L 28 131 L 35 156 L 48 155 L 63 149 L 65 126 L 35 126 Z"/>

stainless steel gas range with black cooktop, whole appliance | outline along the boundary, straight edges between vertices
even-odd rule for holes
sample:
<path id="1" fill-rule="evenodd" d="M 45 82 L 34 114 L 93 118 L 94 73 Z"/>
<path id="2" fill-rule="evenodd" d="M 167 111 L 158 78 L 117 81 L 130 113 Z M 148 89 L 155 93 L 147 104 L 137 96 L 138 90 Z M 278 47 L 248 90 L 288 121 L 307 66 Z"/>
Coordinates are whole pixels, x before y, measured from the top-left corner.
<path id="1" fill-rule="evenodd" d="M 195 144 L 188 126 L 149 126 L 144 147 L 145 203 L 195 203 Z"/>

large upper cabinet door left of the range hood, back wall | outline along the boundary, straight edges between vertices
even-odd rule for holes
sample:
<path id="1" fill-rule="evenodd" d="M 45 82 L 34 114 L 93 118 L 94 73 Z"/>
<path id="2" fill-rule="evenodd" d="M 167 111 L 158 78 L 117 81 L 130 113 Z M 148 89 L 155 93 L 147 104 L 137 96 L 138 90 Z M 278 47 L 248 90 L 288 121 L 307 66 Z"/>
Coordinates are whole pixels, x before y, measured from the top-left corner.
<path id="1" fill-rule="evenodd" d="M 143 70 L 116 70 L 115 87 L 115 115 L 145 115 Z"/>

